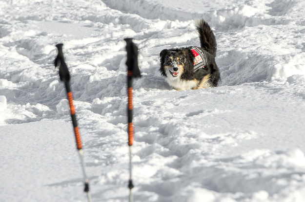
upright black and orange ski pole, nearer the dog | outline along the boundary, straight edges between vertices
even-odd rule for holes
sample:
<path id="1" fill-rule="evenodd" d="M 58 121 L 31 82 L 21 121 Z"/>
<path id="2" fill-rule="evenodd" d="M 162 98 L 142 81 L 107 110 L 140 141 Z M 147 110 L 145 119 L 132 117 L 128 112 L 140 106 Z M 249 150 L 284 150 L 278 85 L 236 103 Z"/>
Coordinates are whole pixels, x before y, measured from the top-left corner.
<path id="1" fill-rule="evenodd" d="M 131 189 L 134 187 L 132 183 L 132 145 L 134 136 L 134 127 L 132 123 L 132 77 L 141 77 L 141 73 L 138 66 L 138 47 L 132 42 L 132 38 L 125 38 L 126 51 L 127 51 L 127 96 L 128 96 L 128 146 L 129 146 L 129 202 L 133 201 Z"/>

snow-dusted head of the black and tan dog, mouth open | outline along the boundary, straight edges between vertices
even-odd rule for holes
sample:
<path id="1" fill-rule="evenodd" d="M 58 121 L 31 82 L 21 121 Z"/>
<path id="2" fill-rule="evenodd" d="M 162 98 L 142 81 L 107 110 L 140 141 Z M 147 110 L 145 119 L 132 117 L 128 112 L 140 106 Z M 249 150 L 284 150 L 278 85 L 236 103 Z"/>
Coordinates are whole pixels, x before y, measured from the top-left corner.
<path id="1" fill-rule="evenodd" d="M 160 53 L 162 75 L 169 79 L 180 78 L 184 71 L 184 64 L 186 61 L 186 53 L 183 49 L 165 49 Z"/>

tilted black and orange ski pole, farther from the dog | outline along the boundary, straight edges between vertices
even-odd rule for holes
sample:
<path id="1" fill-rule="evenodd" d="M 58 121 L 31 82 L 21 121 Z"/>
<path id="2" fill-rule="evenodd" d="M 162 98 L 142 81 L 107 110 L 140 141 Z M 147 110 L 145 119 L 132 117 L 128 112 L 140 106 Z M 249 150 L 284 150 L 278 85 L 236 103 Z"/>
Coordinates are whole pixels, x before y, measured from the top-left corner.
<path id="1" fill-rule="evenodd" d="M 72 124 L 73 124 L 73 128 L 74 128 L 76 146 L 77 146 L 77 149 L 78 149 L 78 152 L 79 152 L 79 155 L 80 155 L 82 173 L 83 173 L 83 176 L 84 176 L 84 186 L 85 186 L 84 192 L 87 193 L 88 202 L 91 202 L 91 195 L 90 195 L 90 192 L 89 192 L 89 181 L 88 181 L 88 178 L 86 176 L 85 165 L 84 165 L 84 161 L 83 161 L 83 150 L 82 150 L 82 145 L 81 145 L 81 135 L 80 135 L 79 127 L 78 127 L 77 120 L 76 120 L 75 108 L 74 108 L 74 105 L 73 105 L 73 96 L 72 96 L 72 91 L 71 91 L 71 88 L 70 88 L 70 73 L 68 71 L 66 63 L 64 62 L 63 53 L 62 53 L 62 46 L 63 46 L 62 43 L 56 45 L 56 47 L 58 49 L 58 55 L 57 55 L 54 63 L 55 63 L 55 67 L 59 66 L 60 78 L 61 78 L 61 81 L 64 82 L 64 85 L 65 85 L 65 88 L 66 88 L 67 98 L 68 98 L 70 113 L 71 113 L 71 119 L 72 119 Z"/>

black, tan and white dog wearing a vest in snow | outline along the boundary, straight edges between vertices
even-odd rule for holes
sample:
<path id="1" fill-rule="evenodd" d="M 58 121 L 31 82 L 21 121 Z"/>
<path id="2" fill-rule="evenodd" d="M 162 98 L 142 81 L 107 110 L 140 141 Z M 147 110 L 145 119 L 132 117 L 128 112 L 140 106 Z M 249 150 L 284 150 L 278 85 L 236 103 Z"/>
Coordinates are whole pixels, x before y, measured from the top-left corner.
<path id="1" fill-rule="evenodd" d="M 195 27 L 201 48 L 164 49 L 160 53 L 160 72 L 177 91 L 216 87 L 220 81 L 214 33 L 203 19 L 196 20 Z"/>

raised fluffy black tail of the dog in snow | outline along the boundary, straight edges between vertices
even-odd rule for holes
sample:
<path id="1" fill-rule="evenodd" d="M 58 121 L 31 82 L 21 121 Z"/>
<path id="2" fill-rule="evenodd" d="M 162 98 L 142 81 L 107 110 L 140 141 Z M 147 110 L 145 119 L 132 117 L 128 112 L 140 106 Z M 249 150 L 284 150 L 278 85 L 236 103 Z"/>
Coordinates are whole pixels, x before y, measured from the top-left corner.
<path id="1" fill-rule="evenodd" d="M 195 21 L 195 27 L 199 32 L 201 47 L 215 57 L 217 44 L 210 26 L 203 19 L 198 19 Z"/>

